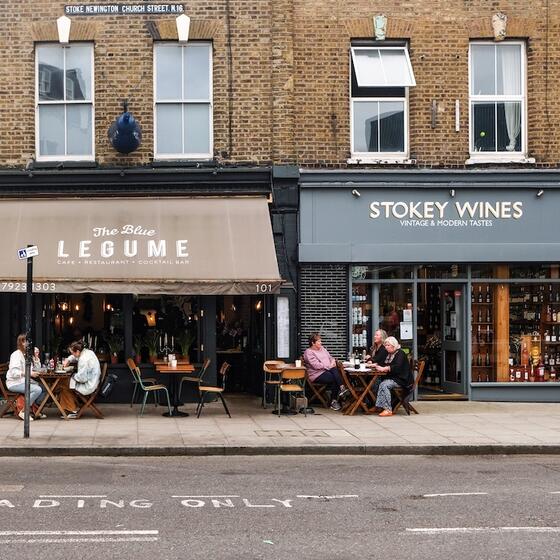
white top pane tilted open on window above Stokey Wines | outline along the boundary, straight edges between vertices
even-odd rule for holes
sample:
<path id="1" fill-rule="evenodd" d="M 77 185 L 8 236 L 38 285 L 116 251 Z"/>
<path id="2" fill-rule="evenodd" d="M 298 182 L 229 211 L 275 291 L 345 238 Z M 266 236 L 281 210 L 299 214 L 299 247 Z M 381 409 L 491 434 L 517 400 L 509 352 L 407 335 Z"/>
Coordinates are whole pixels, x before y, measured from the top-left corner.
<path id="1" fill-rule="evenodd" d="M 416 85 L 406 47 L 352 47 L 358 87 L 413 87 Z"/>

